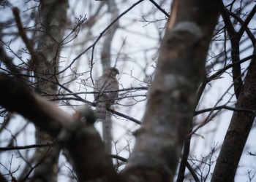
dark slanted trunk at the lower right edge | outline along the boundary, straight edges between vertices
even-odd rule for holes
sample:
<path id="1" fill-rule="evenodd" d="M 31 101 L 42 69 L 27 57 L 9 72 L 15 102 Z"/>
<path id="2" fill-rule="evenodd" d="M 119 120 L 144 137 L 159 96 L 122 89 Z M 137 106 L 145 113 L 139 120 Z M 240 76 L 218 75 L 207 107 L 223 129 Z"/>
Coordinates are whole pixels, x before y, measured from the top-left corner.
<path id="1" fill-rule="evenodd" d="M 234 181 L 238 162 L 255 119 L 256 109 L 256 58 L 252 58 L 236 108 L 252 112 L 234 111 L 225 135 L 211 181 Z"/>

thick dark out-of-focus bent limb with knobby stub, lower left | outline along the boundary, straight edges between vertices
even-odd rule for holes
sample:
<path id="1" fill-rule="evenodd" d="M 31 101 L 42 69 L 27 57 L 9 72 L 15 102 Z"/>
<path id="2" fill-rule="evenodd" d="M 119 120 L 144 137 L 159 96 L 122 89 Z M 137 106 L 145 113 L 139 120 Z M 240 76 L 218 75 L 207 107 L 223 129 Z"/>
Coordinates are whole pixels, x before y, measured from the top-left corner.
<path id="1" fill-rule="evenodd" d="M 71 116 L 5 74 L 0 74 L 0 87 L 1 106 L 18 112 L 41 130 L 57 137 L 56 143 L 69 151 L 80 181 L 95 178 L 118 181 L 99 133 L 91 124 L 94 122 L 92 111 L 83 109 L 79 111 L 81 114 L 77 112 Z M 86 123 L 80 121 L 83 117 Z"/>

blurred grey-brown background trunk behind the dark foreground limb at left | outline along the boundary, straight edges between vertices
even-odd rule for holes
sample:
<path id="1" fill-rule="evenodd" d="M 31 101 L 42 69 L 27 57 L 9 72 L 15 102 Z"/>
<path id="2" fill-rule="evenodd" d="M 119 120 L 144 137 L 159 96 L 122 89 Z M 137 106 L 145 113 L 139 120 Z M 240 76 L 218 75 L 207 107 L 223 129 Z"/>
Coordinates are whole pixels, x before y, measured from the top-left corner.
<path id="1" fill-rule="evenodd" d="M 40 7 L 41 31 L 38 33 L 38 54 L 32 59 L 34 59 L 34 73 L 37 76 L 37 91 L 42 93 L 53 95 L 58 89 L 57 84 L 52 84 L 50 81 L 56 82 L 55 74 L 59 71 L 59 52 L 66 25 L 67 8 L 67 0 L 44 0 Z M 48 99 L 51 98 L 48 97 Z M 53 139 L 47 133 L 41 132 L 40 128 L 36 129 L 37 143 L 48 143 L 52 142 Z M 55 149 L 53 153 L 48 148 L 37 149 L 34 155 L 36 163 L 42 160 L 43 156 L 48 156 L 45 157 L 41 165 L 35 168 L 34 178 L 37 178 L 37 181 L 39 178 L 42 181 L 57 181 L 59 152 Z"/>

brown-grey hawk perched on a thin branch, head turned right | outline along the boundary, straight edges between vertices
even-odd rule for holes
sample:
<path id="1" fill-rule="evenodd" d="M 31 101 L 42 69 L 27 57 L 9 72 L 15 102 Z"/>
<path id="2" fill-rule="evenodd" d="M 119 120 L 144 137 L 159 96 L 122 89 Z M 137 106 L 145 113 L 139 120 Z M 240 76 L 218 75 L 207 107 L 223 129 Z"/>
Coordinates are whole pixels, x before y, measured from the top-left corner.
<path id="1" fill-rule="evenodd" d="M 119 74 L 118 69 L 111 67 L 95 80 L 94 102 L 96 103 L 96 108 L 94 114 L 97 119 L 104 120 L 106 118 L 107 108 L 113 105 L 118 97 L 117 74 Z"/>

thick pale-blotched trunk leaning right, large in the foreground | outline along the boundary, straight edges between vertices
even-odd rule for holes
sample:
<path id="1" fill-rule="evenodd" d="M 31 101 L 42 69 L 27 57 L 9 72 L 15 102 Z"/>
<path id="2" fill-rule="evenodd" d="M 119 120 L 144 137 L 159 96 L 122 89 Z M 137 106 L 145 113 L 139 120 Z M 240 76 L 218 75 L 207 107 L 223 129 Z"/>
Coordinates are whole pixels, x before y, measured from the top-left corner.
<path id="1" fill-rule="evenodd" d="M 173 1 L 143 124 L 135 133 L 135 149 L 127 164 L 131 178 L 173 179 L 218 12 L 216 1 Z"/>

